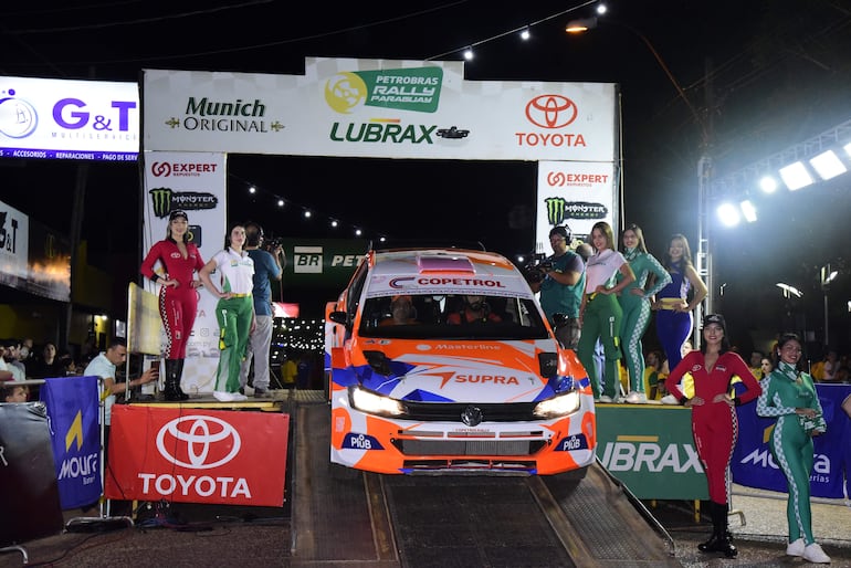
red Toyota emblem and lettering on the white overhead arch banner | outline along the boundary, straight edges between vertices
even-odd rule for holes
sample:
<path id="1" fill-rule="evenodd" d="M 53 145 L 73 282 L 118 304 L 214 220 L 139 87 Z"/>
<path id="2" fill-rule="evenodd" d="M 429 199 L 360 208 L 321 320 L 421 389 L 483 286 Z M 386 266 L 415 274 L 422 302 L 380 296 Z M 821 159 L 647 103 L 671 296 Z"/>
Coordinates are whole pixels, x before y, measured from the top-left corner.
<path id="1" fill-rule="evenodd" d="M 515 133 L 519 146 L 586 146 L 581 134 L 563 132 L 579 116 L 576 103 L 566 96 L 538 95 L 526 103 L 524 113 L 529 123 L 546 132 Z"/>

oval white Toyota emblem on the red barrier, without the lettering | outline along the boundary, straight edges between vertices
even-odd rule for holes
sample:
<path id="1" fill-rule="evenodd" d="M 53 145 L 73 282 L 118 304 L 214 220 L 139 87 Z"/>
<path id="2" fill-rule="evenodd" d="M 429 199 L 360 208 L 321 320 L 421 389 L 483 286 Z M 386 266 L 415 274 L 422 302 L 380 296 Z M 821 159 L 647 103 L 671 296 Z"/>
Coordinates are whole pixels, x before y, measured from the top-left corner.
<path id="1" fill-rule="evenodd" d="M 160 455 L 189 470 L 211 470 L 233 460 L 242 446 L 239 432 L 224 420 L 206 416 L 176 418 L 157 433 Z"/>

